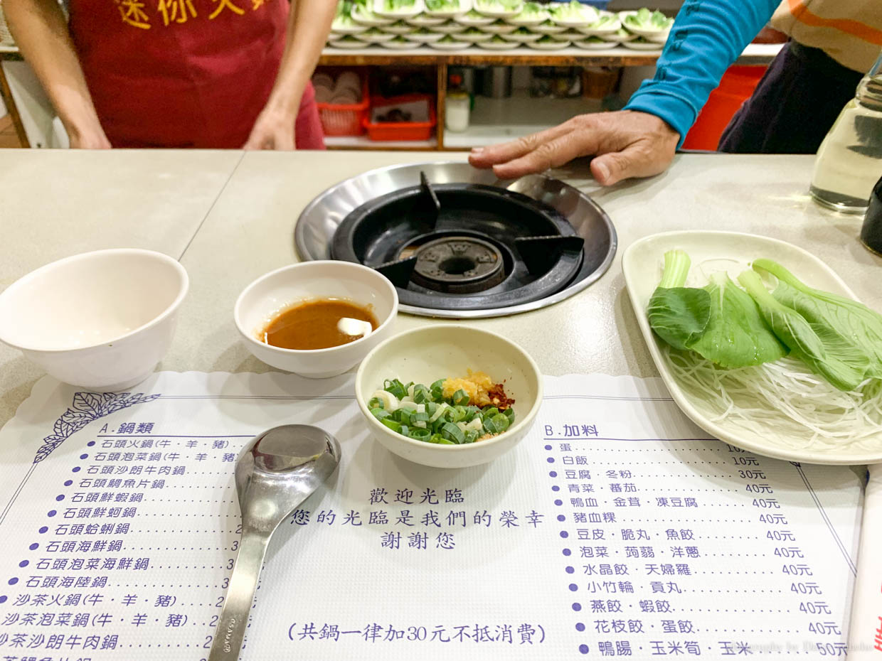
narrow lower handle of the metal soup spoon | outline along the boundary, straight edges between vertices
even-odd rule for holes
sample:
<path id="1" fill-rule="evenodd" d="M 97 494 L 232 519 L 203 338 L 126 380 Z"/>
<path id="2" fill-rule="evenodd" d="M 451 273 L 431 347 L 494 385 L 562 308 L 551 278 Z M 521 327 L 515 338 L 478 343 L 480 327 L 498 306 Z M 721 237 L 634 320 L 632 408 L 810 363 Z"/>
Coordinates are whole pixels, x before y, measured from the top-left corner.
<path id="1" fill-rule="evenodd" d="M 221 619 L 214 633 L 208 661 L 236 661 L 239 658 L 269 540 L 270 536 L 264 532 L 243 525 L 239 554 L 235 558 L 233 574 L 229 577 L 227 598 L 221 609 Z"/>

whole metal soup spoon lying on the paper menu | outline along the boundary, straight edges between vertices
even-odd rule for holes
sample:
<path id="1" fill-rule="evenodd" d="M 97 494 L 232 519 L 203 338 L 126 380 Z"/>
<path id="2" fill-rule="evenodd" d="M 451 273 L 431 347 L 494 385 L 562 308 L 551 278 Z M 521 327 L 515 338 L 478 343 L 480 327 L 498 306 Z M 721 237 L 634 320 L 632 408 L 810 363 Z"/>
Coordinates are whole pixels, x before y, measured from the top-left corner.
<path id="1" fill-rule="evenodd" d="M 340 443 L 318 427 L 282 425 L 255 436 L 235 464 L 242 538 L 208 661 L 242 649 L 260 567 L 273 531 L 340 463 Z"/>

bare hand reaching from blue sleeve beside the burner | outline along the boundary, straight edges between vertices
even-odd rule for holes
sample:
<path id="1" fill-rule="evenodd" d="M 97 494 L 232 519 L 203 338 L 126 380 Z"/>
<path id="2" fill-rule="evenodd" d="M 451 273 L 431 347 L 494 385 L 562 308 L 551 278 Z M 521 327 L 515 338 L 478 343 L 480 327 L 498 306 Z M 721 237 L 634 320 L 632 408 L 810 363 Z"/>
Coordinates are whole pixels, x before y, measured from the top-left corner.
<path id="1" fill-rule="evenodd" d="M 552 129 L 472 150 L 468 162 L 500 179 L 544 172 L 579 156 L 594 156 L 591 174 L 604 186 L 663 172 L 680 134 L 655 115 L 634 110 L 578 115 Z"/>

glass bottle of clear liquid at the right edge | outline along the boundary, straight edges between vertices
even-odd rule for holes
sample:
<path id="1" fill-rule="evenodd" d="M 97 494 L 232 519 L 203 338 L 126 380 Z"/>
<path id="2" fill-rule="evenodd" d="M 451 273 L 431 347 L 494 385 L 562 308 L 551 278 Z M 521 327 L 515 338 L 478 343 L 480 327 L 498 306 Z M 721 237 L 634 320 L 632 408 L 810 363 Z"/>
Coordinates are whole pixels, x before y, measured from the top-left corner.
<path id="1" fill-rule="evenodd" d="M 836 211 L 863 213 L 882 176 L 882 53 L 857 85 L 818 148 L 812 197 Z"/>

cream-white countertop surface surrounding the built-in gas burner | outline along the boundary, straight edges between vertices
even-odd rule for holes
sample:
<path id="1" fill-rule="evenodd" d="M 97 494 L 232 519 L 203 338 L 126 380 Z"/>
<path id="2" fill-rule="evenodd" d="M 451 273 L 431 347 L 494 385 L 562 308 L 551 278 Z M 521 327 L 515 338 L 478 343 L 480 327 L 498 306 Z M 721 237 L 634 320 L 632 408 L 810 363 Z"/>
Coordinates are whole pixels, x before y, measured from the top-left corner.
<path id="1" fill-rule="evenodd" d="M 160 368 L 265 372 L 232 320 L 236 296 L 266 271 L 297 261 L 295 220 L 335 182 L 373 167 L 461 160 L 438 152 L 0 151 L 0 288 L 90 249 L 155 249 L 191 276 L 180 325 Z M 765 234 L 810 250 L 882 309 L 882 258 L 857 240 L 862 220 L 811 202 L 812 156 L 688 154 L 664 175 L 600 189 L 580 161 L 555 175 L 594 197 L 618 232 L 616 260 L 586 291 L 550 308 L 477 320 L 532 353 L 545 374 L 656 375 L 624 291 L 621 256 L 656 232 Z M 397 330 L 430 323 L 400 315 Z M 0 424 L 41 370 L 0 346 Z"/>

